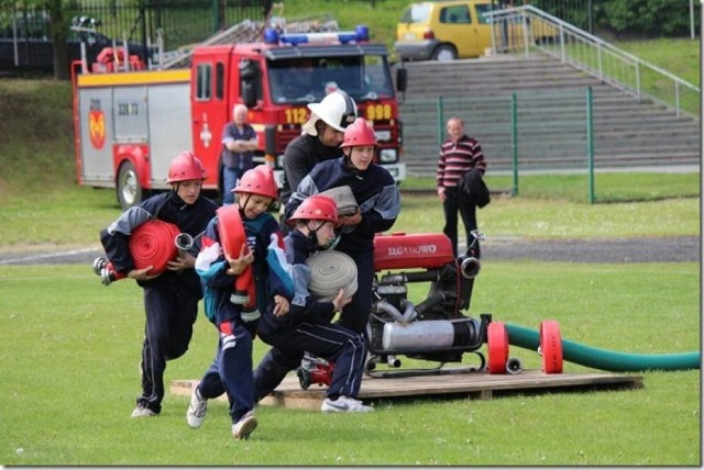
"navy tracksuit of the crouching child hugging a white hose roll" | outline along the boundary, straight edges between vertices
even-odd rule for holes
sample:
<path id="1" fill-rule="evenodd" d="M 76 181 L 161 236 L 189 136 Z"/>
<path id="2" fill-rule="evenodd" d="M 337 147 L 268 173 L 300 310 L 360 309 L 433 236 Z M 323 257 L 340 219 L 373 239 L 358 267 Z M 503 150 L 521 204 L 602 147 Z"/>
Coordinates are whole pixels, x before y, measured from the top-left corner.
<path id="1" fill-rule="evenodd" d="M 256 400 L 268 395 L 289 370 L 300 363 L 306 351 L 334 362 L 327 395 L 356 396 L 360 392 L 366 346 L 364 337 L 330 323 L 332 302 L 317 302 L 308 292 L 310 269 L 306 259 L 318 249 L 306 235 L 295 230 L 286 238 L 286 260 L 293 266 L 295 291 L 288 314 L 276 316 L 273 305 L 260 321 L 260 337 L 272 349 L 254 371 Z"/>

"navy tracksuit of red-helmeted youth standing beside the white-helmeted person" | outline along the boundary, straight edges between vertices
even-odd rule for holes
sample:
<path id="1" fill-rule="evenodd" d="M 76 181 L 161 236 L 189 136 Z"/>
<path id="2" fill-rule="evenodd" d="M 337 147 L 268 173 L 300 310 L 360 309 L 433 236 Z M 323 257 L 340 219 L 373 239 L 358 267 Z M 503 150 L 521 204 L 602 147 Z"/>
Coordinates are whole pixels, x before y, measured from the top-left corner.
<path id="1" fill-rule="evenodd" d="M 400 194 L 388 170 L 370 165 L 364 171 L 350 169 L 346 157 L 322 161 L 302 179 L 286 204 L 286 219 L 308 197 L 330 188 L 349 186 L 362 211 L 362 221 L 354 226 L 343 226 L 342 237 L 336 249 L 349 255 L 356 264 L 358 291 L 343 310 L 340 324 L 362 333 L 372 309 L 374 281 L 374 235 L 389 230 L 400 212 Z"/>

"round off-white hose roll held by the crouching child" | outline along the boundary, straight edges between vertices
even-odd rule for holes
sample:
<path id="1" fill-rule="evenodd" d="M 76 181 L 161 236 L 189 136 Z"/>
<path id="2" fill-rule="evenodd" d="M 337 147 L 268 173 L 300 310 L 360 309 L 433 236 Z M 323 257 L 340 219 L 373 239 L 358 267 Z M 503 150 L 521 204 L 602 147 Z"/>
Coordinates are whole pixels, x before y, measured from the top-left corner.
<path id="1" fill-rule="evenodd" d="M 308 290 L 320 302 L 331 302 L 344 289 L 348 296 L 356 292 L 356 265 L 341 251 L 318 251 L 306 260 L 310 268 Z"/>

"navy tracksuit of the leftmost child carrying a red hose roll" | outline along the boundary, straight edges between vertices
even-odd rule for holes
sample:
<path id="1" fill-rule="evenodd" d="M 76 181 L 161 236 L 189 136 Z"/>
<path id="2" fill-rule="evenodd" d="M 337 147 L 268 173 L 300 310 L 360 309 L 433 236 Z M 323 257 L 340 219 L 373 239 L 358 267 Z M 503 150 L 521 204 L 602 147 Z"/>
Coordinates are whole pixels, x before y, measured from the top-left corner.
<path id="1" fill-rule="evenodd" d="M 160 193 L 128 209 L 100 232 L 100 240 L 114 269 L 127 275 L 135 269 L 129 247 L 130 235 L 140 225 L 157 219 L 175 224 L 180 232 L 193 236 L 196 243 L 191 254 L 196 256 L 202 232 L 217 209 L 213 201 L 202 195 L 188 205 L 174 191 Z M 142 345 L 142 394 L 136 404 L 158 414 L 164 398 L 166 361 L 188 350 L 202 291 L 194 269 L 166 270 L 157 278 L 138 281 L 138 284 L 144 289 L 146 323 Z"/>

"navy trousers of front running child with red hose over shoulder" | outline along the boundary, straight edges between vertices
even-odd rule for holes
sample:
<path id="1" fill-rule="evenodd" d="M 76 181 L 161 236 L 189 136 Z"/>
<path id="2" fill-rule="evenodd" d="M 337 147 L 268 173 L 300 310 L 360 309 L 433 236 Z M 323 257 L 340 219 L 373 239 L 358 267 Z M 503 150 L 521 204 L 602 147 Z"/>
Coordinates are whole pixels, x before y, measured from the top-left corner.
<path id="1" fill-rule="evenodd" d="M 216 358 L 200 379 L 198 391 L 204 399 L 228 394 L 232 424 L 254 409 L 252 381 L 252 333 L 230 323 L 231 334 L 220 333 Z"/>

